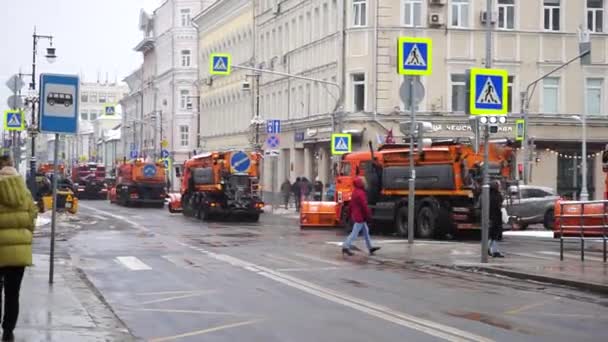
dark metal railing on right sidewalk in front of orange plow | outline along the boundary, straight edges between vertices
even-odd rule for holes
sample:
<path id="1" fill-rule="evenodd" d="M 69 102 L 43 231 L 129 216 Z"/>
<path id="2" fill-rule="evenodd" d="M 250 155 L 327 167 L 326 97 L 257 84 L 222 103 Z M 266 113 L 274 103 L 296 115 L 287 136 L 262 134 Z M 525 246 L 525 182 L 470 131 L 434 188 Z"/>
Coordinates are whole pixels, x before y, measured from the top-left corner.
<path id="1" fill-rule="evenodd" d="M 559 259 L 564 260 L 564 239 L 571 238 L 580 239 L 581 261 L 585 261 L 585 240 L 603 241 L 606 262 L 608 201 L 560 201 L 559 205 L 559 215 L 556 215 L 556 224 L 559 225 Z"/>

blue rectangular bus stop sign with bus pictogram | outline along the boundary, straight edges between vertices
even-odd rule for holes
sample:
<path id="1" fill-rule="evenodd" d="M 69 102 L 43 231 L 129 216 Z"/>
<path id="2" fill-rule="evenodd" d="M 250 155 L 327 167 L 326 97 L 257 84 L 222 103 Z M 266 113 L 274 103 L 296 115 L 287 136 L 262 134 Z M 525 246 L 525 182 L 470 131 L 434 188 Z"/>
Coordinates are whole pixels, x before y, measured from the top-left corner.
<path id="1" fill-rule="evenodd" d="M 77 134 L 78 76 L 40 75 L 40 131 Z"/>

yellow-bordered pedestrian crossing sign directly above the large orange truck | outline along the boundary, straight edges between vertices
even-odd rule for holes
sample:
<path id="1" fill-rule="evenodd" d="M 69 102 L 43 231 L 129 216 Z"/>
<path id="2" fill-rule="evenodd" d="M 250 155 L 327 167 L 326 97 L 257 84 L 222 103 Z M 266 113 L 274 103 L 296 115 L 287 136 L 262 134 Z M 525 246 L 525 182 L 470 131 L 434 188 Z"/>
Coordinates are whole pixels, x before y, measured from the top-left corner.
<path id="1" fill-rule="evenodd" d="M 399 37 L 397 57 L 400 75 L 430 75 L 433 71 L 433 41 L 430 38 Z"/>

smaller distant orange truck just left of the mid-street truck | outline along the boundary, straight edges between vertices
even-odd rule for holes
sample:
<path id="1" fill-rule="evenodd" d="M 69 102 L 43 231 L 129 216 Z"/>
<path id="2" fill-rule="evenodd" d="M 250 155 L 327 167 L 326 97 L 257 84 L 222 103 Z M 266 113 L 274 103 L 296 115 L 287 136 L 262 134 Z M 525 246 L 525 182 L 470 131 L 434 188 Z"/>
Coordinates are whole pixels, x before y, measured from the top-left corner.
<path id="1" fill-rule="evenodd" d="M 124 206 L 165 205 L 166 174 L 163 164 L 141 159 L 125 162 L 116 170 L 116 186 L 110 202 Z"/>

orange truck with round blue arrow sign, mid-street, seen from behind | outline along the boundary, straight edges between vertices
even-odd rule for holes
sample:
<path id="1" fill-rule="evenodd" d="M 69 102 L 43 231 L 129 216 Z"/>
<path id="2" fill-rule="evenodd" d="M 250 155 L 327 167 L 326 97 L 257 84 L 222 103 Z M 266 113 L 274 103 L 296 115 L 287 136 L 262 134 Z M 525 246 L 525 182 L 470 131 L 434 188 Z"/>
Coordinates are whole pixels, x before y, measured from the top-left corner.
<path id="1" fill-rule="evenodd" d="M 201 220 L 239 217 L 257 222 L 264 202 L 260 196 L 256 152 L 211 152 L 184 164 L 180 194 L 171 194 L 169 211 Z"/>

